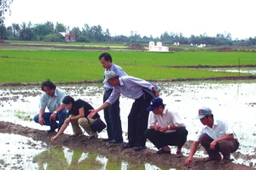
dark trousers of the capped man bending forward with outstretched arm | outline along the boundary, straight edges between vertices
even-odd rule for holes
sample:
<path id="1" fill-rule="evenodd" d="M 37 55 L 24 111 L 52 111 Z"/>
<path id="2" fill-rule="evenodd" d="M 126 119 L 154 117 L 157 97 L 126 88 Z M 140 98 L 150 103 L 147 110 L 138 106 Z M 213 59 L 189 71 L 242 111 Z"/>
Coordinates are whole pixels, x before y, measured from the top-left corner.
<path id="1" fill-rule="evenodd" d="M 139 99 L 135 99 L 128 116 L 128 140 L 131 146 L 145 146 L 147 138 L 144 133 L 148 128 L 148 106 L 152 96 L 143 94 Z"/>

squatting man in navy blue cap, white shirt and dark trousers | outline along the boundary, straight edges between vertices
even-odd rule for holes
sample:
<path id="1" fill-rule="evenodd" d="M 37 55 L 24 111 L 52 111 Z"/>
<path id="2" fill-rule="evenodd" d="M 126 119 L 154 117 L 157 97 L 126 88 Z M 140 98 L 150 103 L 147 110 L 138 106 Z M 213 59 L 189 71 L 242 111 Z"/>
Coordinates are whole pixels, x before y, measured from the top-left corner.
<path id="1" fill-rule="evenodd" d="M 183 157 L 182 147 L 187 141 L 188 131 L 185 128 L 181 116 L 175 111 L 170 111 L 163 104 L 161 98 L 154 98 L 148 106 L 148 129 L 145 136 L 155 147 L 157 154 L 171 154 L 168 145 L 177 146 L 177 157 Z"/>

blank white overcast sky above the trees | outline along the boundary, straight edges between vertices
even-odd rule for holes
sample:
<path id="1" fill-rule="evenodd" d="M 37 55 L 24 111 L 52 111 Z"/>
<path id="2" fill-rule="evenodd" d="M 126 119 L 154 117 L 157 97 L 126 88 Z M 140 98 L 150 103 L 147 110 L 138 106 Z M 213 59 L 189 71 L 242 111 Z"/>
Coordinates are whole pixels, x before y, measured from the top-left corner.
<path id="1" fill-rule="evenodd" d="M 111 36 L 160 37 L 168 33 L 216 37 L 229 32 L 233 39 L 256 37 L 255 0 L 14 0 L 5 26 L 12 23 L 65 26 L 102 26 Z"/>

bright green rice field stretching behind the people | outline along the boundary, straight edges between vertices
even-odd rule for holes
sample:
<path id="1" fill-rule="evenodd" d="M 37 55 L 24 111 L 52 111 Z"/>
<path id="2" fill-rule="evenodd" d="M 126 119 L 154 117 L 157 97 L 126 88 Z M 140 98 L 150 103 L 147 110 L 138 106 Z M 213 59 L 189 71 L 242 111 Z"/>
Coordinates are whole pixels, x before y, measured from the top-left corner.
<path id="1" fill-rule="evenodd" d="M 131 76 L 146 80 L 237 77 L 238 73 L 174 68 L 186 65 L 256 65 L 256 54 L 217 52 L 148 53 L 108 51 L 113 63 Z M 102 81 L 102 51 L 1 50 L 0 82 Z M 239 76 L 249 75 L 240 73 Z"/>

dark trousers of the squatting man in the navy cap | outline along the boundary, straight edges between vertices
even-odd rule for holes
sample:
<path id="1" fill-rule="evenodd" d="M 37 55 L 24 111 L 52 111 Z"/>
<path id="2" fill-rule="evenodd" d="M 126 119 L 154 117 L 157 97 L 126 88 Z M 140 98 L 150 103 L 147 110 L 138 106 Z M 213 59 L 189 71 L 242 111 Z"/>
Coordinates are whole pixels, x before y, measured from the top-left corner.
<path id="1" fill-rule="evenodd" d="M 166 145 L 177 146 L 177 148 L 181 149 L 187 141 L 188 131 L 185 127 L 178 127 L 174 133 L 160 133 L 159 131 L 148 128 L 145 131 L 145 136 L 157 149 Z"/>

